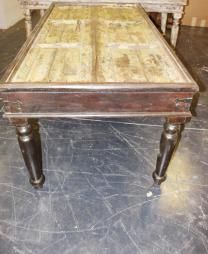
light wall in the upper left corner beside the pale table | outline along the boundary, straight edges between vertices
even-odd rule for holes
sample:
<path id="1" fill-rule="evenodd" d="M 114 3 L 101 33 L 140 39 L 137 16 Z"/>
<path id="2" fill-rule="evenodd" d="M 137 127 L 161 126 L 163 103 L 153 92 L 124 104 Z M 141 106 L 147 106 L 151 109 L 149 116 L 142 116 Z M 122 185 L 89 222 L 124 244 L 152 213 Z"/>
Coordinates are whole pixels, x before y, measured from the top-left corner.
<path id="1" fill-rule="evenodd" d="M 0 0 L 0 29 L 7 29 L 22 18 L 18 0 Z"/>

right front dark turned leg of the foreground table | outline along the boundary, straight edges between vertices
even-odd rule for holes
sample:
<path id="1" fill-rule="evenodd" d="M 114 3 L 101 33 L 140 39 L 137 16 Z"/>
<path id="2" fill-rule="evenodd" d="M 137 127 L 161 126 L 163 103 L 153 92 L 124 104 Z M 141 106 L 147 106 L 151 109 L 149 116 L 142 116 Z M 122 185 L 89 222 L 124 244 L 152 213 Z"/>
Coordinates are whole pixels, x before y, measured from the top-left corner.
<path id="1" fill-rule="evenodd" d="M 160 184 L 166 179 L 166 172 L 180 137 L 181 123 L 166 121 L 160 140 L 160 153 L 157 157 L 156 169 L 153 172 L 155 183 Z"/>

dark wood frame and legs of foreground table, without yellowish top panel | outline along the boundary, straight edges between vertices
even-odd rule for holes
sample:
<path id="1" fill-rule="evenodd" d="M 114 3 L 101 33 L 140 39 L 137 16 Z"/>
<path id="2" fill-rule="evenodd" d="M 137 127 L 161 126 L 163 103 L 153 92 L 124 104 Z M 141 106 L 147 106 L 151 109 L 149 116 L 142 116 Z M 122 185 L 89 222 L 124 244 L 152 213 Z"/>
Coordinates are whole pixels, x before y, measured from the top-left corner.
<path id="1" fill-rule="evenodd" d="M 31 184 L 40 187 L 45 180 L 40 152 L 30 123 L 31 118 L 137 116 L 158 116 L 166 119 L 153 173 L 155 182 L 160 184 L 166 178 L 168 164 L 180 137 L 181 126 L 191 118 L 190 106 L 193 96 L 198 92 L 198 86 L 148 17 L 150 26 L 157 34 L 158 40 L 164 44 L 167 54 L 171 55 L 175 64 L 188 75 L 191 82 L 162 86 L 157 83 L 147 86 L 136 83 L 86 85 L 10 82 L 10 77 L 17 71 L 52 8 L 53 6 L 41 19 L 1 81 L 4 117 L 16 126 Z"/>

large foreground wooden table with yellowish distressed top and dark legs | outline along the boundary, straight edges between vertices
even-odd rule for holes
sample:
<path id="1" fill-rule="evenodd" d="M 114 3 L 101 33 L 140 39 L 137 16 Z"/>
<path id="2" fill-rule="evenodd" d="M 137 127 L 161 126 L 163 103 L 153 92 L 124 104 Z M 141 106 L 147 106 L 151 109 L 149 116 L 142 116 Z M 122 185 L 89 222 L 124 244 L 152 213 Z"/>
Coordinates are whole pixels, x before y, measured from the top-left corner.
<path id="1" fill-rule="evenodd" d="M 44 175 L 29 119 L 165 117 L 153 173 L 168 163 L 198 86 L 136 4 L 53 4 L 1 83 L 30 182 Z"/>

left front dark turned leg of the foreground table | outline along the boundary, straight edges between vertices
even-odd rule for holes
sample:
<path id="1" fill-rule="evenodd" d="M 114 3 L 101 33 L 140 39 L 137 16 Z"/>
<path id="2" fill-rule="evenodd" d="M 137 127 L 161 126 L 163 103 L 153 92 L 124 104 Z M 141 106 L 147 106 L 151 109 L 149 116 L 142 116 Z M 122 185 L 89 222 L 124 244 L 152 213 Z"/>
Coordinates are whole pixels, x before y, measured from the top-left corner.
<path id="1" fill-rule="evenodd" d="M 15 120 L 20 150 L 22 152 L 30 183 L 34 187 L 42 187 L 45 177 L 42 172 L 41 153 L 35 141 L 31 125 L 27 120 Z"/>

